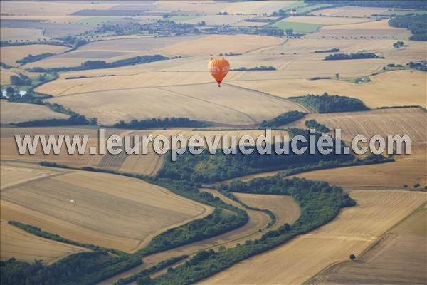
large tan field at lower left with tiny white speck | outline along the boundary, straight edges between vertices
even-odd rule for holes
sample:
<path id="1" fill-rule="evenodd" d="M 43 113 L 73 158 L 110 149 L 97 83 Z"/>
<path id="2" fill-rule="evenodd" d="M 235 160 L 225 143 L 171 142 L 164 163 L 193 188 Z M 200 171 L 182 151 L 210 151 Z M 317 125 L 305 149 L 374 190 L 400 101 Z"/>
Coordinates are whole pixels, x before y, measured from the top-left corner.
<path id="1" fill-rule="evenodd" d="M 144 246 L 165 229 L 212 212 L 211 207 L 163 187 L 97 172 L 70 170 L 1 192 L 2 219 L 127 252 Z M 70 199 L 77 203 L 70 204 Z"/>

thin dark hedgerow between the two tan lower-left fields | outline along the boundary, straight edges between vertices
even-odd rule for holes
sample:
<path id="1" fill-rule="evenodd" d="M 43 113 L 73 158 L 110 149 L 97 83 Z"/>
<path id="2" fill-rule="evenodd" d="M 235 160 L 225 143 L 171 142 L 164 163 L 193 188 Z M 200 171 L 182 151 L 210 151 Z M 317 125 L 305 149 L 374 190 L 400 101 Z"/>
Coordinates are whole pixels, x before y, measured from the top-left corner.
<path id="1" fill-rule="evenodd" d="M 120 252 L 117 249 L 106 249 L 105 247 L 100 247 L 94 244 L 86 244 L 84 242 L 75 242 L 70 239 L 66 239 L 65 237 L 61 237 L 58 234 L 52 234 L 50 232 L 45 232 L 39 227 L 31 226 L 31 224 L 23 224 L 21 222 L 9 221 L 8 224 L 12 224 L 15 227 L 19 227 L 19 229 L 23 229 L 30 234 L 34 234 L 38 237 L 44 237 L 46 239 L 52 239 L 56 242 L 63 242 L 65 244 L 73 244 L 78 247 L 86 247 L 88 249 L 92 249 L 93 251 L 101 251 L 101 252 L 112 252 L 113 254 L 124 254 L 124 252 Z"/>

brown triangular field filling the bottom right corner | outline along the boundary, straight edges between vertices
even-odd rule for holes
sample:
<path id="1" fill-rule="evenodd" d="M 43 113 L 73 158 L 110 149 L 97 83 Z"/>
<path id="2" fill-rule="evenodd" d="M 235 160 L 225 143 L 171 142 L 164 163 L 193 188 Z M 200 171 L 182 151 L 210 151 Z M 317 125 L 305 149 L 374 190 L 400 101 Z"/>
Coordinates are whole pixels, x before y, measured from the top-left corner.
<path id="1" fill-rule="evenodd" d="M 310 284 L 426 284 L 427 208 L 411 214 L 356 261 L 315 276 Z"/>

